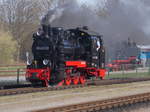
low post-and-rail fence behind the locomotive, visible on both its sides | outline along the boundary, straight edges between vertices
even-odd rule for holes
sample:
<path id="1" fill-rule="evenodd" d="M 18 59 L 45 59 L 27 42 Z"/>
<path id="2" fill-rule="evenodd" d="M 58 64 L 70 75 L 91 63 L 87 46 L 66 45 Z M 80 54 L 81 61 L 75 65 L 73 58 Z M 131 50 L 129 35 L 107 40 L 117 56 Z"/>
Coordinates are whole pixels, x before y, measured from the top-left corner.
<path id="1" fill-rule="evenodd" d="M 13 82 L 19 84 L 25 82 L 25 64 L 16 65 L 0 65 L 0 85 L 3 83 Z M 111 71 L 107 68 L 106 79 L 112 78 L 136 78 L 136 77 L 149 77 L 150 78 L 150 66 L 142 68 L 135 65 L 134 68 L 127 69 L 126 66 L 121 66 L 117 71 Z"/>

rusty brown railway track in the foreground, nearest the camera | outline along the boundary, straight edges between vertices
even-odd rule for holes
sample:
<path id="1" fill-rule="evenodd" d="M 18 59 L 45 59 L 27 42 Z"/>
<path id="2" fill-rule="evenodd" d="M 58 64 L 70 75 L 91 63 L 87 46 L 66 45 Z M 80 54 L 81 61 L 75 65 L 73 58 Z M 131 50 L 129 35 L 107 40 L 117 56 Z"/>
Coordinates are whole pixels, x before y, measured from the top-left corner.
<path id="1" fill-rule="evenodd" d="M 150 93 L 136 94 L 131 96 L 92 101 L 80 104 L 55 107 L 32 112 L 99 112 L 104 109 L 121 107 L 124 105 L 150 101 Z"/>

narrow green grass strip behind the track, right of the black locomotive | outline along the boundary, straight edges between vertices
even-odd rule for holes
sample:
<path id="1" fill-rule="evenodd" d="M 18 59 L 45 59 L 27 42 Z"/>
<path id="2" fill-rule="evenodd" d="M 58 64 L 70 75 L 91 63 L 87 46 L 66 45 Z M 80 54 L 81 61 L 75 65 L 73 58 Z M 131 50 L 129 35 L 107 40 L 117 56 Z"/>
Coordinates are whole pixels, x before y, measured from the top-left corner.
<path id="1" fill-rule="evenodd" d="M 124 73 L 124 74 L 111 74 L 106 75 L 106 79 L 111 79 L 111 78 L 150 78 L 150 73 L 144 72 L 144 73 Z"/>

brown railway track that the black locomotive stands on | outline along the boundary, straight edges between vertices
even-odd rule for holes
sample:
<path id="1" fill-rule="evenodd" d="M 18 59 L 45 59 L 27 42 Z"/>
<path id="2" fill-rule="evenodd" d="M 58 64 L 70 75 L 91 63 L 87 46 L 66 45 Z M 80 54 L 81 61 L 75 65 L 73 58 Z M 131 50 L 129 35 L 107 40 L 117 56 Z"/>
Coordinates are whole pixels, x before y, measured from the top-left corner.
<path id="1" fill-rule="evenodd" d="M 53 90 L 64 90 L 64 89 L 71 89 L 71 88 L 82 88 L 91 85 L 111 85 L 111 84 L 123 84 L 123 83 L 132 83 L 132 82 L 140 82 L 140 81 L 149 81 L 150 78 L 143 78 L 143 79 L 112 79 L 112 80 L 93 80 L 87 81 L 85 85 L 70 85 L 70 86 L 52 86 L 52 87 L 27 87 L 27 88 L 17 88 L 17 89 L 4 89 L 0 90 L 0 96 L 8 96 L 8 95 L 17 95 L 17 94 L 25 94 L 25 93 L 34 93 L 34 92 L 44 92 L 44 91 L 53 91 Z"/>

